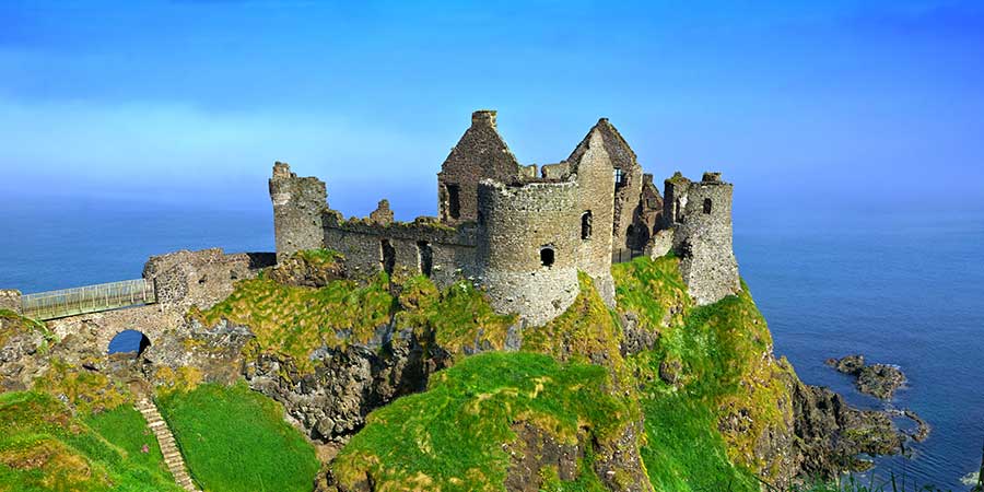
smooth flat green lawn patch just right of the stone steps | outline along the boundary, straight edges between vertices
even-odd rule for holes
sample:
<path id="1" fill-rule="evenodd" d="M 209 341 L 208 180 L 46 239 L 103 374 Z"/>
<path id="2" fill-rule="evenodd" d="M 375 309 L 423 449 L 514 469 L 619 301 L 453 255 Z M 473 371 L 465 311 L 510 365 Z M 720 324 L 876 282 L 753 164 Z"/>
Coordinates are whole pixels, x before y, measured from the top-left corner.
<path id="1" fill-rule="evenodd" d="M 186 464 L 209 492 L 309 492 L 320 465 L 283 408 L 234 386 L 200 385 L 159 398 Z"/>

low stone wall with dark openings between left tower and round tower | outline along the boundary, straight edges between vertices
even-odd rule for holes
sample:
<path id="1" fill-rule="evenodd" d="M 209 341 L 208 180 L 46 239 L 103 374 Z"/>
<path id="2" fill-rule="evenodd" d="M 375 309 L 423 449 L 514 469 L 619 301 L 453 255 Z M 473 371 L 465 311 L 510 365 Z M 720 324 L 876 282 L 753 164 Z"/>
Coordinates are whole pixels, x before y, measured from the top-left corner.
<path id="1" fill-rule="evenodd" d="M 325 213 L 324 224 L 325 247 L 344 255 L 345 268 L 356 279 L 373 277 L 391 265 L 388 273 L 397 279 L 426 274 L 445 288 L 473 272 L 475 226 L 448 227 L 434 218 L 410 223 L 341 221 L 333 211 Z M 386 247 L 391 248 L 390 263 Z"/>

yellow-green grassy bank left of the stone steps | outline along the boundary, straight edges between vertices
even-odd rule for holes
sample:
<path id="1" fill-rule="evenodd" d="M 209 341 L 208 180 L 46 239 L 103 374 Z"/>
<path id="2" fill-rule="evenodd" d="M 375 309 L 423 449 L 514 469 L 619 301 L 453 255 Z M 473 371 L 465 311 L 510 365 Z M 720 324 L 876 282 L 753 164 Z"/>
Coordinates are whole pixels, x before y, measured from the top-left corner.
<path id="1" fill-rule="evenodd" d="M 149 453 L 142 453 L 143 445 Z M 0 395 L 0 490 L 178 492 L 132 408 L 83 418 L 49 395 Z"/>

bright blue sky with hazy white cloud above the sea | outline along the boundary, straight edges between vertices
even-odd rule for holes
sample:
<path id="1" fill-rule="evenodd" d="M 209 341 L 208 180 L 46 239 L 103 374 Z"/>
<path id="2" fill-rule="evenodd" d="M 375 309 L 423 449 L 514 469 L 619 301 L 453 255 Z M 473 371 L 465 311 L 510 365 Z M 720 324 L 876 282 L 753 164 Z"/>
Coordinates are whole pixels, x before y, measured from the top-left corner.
<path id="1" fill-rule="evenodd" d="M 358 3 L 358 4 L 354 4 Z M 619 3 L 612 5 L 611 3 Z M 984 209 L 984 4 L 0 3 L 0 192 L 434 213 L 477 108 L 524 163 L 609 117 L 745 210 Z"/>

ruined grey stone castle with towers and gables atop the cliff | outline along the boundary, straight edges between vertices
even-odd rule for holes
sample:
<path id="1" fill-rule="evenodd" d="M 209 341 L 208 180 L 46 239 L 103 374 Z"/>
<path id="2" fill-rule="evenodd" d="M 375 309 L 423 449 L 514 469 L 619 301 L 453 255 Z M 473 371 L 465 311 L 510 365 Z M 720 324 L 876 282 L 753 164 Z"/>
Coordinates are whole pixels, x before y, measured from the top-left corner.
<path id="1" fill-rule="evenodd" d="M 492 307 L 530 326 L 563 313 L 577 272 L 614 305 L 612 258 L 672 249 L 698 304 L 740 290 L 731 250 L 731 185 L 719 173 L 666 180 L 666 200 L 605 118 L 566 160 L 522 165 L 499 134 L 495 112 L 479 110 L 437 174 L 438 216 L 397 222 L 387 200 L 368 218 L 329 208 L 325 184 L 277 163 L 270 178 L 277 257 L 333 249 L 350 276 L 424 274 L 441 288 L 460 279 Z M 629 253 L 628 256 L 623 255 Z"/>

